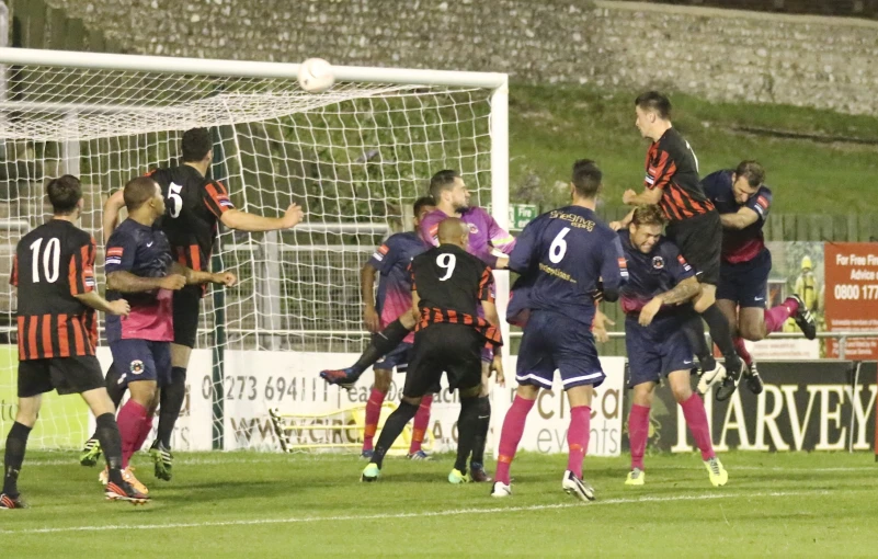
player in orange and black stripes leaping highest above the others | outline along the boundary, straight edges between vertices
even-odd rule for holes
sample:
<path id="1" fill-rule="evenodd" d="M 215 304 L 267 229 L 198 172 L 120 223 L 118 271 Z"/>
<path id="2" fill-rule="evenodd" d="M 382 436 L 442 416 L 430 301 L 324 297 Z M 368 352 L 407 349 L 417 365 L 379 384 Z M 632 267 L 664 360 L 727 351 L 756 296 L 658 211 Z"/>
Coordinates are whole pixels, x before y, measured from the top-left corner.
<path id="1" fill-rule="evenodd" d="M 710 336 L 725 357 L 728 374 L 717 390 L 717 399 L 726 400 L 738 388 L 746 365 L 736 352 L 729 320 L 716 305 L 722 243 L 719 214 L 698 181 L 698 160 L 692 147 L 671 124 L 671 101 L 661 93 L 649 91 L 635 100 L 635 111 L 637 128 L 652 145 L 647 152 L 646 191 L 637 194 L 627 190 L 623 202 L 634 206 L 658 204 L 669 220 L 669 239 L 695 267 L 702 285 L 695 310 L 707 322 Z M 630 223 L 631 213 L 611 226 L 618 230 Z M 704 324 L 696 315 L 693 313 L 686 322 L 684 331 L 702 369 L 715 372 L 716 361 L 704 339 Z"/>

